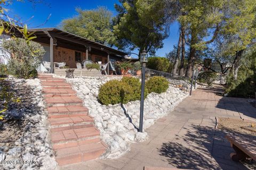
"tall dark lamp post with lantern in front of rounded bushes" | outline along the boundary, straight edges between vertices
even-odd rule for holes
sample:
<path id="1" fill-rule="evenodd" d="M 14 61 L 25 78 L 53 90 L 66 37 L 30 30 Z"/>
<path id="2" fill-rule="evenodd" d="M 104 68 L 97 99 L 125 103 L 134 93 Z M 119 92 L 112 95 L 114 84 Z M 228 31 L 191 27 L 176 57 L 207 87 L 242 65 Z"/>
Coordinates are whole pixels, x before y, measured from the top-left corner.
<path id="1" fill-rule="evenodd" d="M 146 63 L 148 62 L 148 54 L 144 48 L 140 55 L 140 62 L 142 64 L 142 73 L 141 73 L 141 97 L 140 97 L 140 127 L 139 132 L 142 132 L 143 126 L 143 109 L 144 109 L 144 91 L 145 91 L 145 71 Z"/>

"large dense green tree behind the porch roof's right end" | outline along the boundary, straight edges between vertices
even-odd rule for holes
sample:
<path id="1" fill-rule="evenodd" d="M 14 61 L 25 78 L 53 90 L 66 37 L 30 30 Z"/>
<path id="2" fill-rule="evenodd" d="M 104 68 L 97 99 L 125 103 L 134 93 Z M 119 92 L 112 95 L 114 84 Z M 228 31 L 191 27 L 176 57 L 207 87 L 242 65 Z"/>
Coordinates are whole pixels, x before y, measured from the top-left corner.
<path id="1" fill-rule="evenodd" d="M 139 56 L 145 48 L 150 54 L 163 47 L 167 37 L 164 2 L 161 0 L 119 0 L 115 4 L 118 15 L 115 18 L 114 33 L 118 47 L 139 49 Z"/>

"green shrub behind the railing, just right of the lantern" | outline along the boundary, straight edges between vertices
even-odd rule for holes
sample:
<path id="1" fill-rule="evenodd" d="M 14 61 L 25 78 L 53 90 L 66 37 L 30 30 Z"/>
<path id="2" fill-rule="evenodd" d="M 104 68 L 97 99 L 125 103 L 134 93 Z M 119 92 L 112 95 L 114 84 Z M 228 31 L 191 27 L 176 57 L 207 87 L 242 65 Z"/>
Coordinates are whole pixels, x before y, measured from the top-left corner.
<path id="1" fill-rule="evenodd" d="M 170 62 L 165 57 L 149 57 L 147 67 L 149 69 L 167 72 L 169 71 Z"/>

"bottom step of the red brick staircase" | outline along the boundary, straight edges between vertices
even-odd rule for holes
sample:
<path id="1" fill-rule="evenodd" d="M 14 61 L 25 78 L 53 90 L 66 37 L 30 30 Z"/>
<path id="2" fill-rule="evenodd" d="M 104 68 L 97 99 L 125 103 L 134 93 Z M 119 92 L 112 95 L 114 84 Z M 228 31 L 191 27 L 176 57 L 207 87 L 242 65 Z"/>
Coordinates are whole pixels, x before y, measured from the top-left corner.
<path id="1" fill-rule="evenodd" d="M 58 149 L 55 159 L 60 166 L 74 164 L 96 159 L 102 155 L 105 150 L 106 148 L 102 143 Z"/>

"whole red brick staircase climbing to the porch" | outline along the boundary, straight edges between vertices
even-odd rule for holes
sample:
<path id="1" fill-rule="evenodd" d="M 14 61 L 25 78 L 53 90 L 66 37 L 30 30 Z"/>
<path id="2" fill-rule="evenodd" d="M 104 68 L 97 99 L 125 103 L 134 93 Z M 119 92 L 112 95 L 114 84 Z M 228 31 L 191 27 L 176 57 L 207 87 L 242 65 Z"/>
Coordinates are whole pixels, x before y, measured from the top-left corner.
<path id="1" fill-rule="evenodd" d="M 60 166 L 96 159 L 106 150 L 93 118 L 65 79 L 39 74 L 51 124 L 51 141 Z"/>

